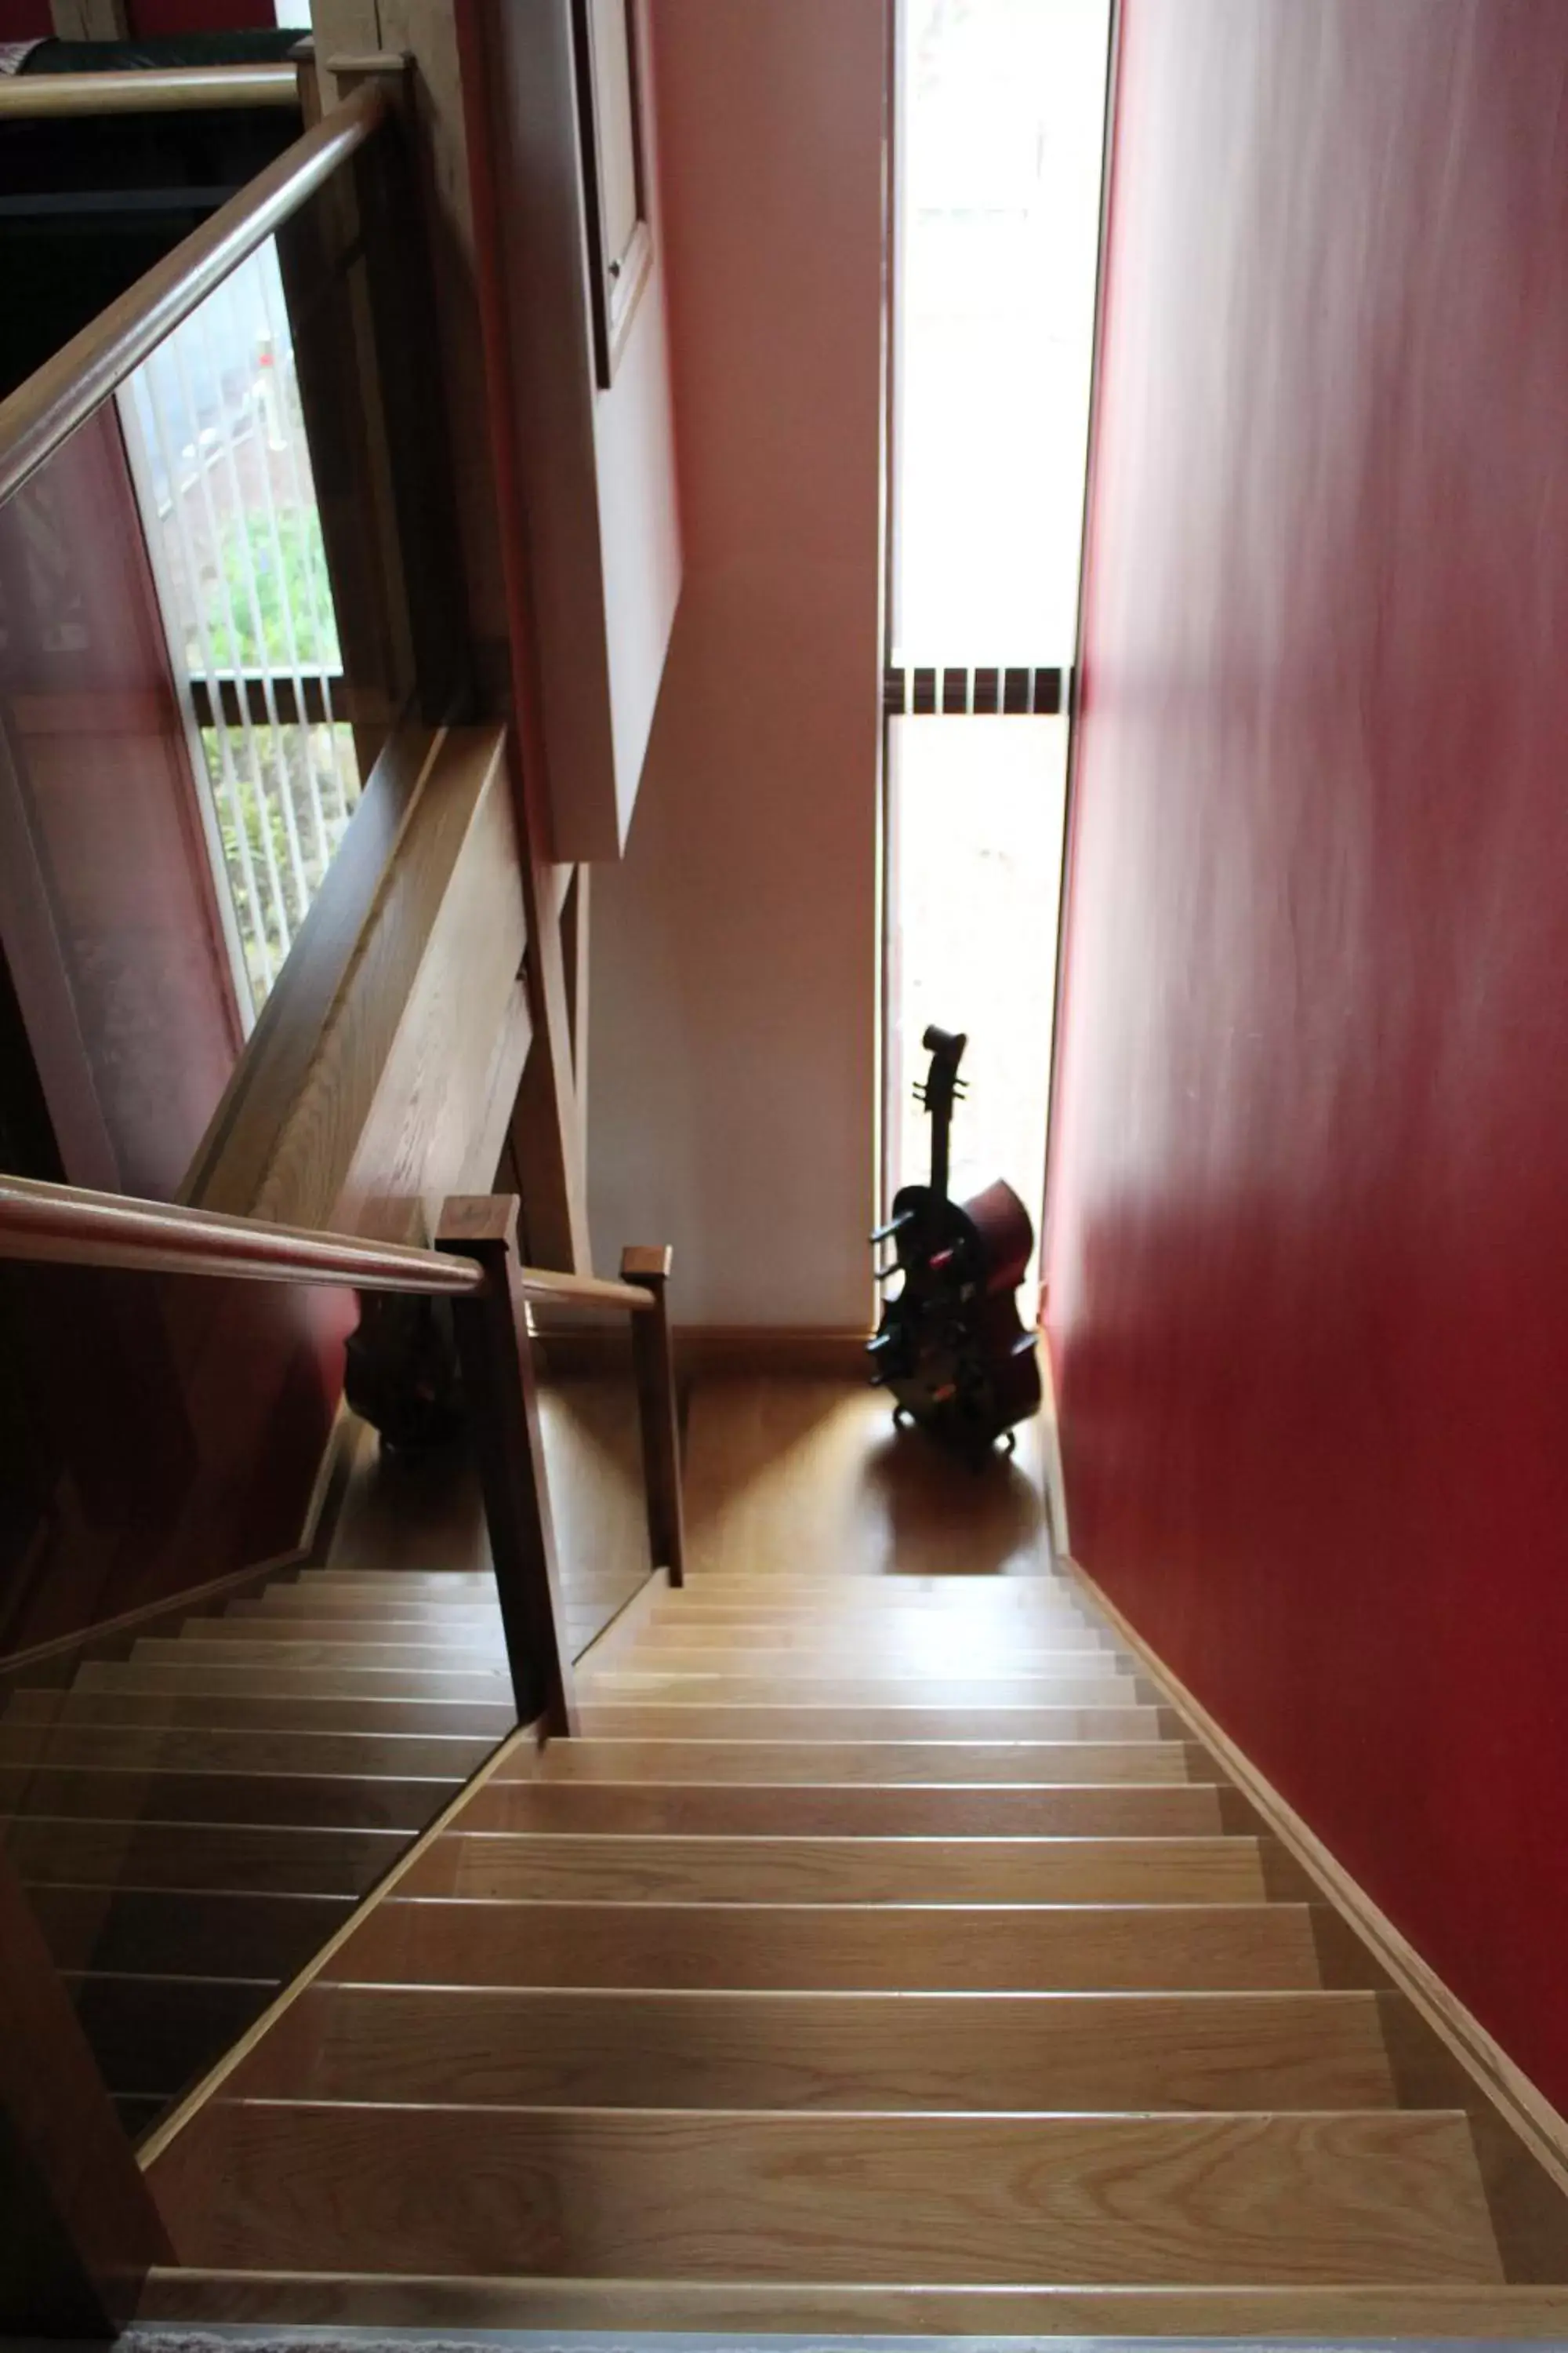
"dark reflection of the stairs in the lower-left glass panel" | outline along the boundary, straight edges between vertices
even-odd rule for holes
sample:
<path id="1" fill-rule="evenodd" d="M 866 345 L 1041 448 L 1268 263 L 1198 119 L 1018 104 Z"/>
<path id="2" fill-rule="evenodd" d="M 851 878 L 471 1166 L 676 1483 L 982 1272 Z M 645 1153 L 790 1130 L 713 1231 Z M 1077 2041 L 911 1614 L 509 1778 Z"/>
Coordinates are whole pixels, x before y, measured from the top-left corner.
<path id="1" fill-rule="evenodd" d="M 129 2132 L 515 1725 L 494 1579 L 277 1579 L 0 1706 L 0 1845 Z"/>

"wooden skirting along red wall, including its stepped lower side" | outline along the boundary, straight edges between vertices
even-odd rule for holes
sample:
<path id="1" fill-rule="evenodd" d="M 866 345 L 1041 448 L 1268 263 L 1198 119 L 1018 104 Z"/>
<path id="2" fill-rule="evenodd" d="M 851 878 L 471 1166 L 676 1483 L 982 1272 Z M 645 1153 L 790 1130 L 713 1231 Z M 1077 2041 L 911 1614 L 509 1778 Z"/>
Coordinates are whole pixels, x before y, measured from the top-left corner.
<path id="1" fill-rule="evenodd" d="M 1161 1715 L 1197 1741 L 1255 1809 L 1288 1866 L 1305 1875 L 1324 1986 L 1373 1986 L 1385 1995 L 1385 2042 L 1401 2101 L 1420 2106 L 1443 2087 L 1469 2118 L 1493 2235 L 1509 2282 L 1568 2280 L 1568 2118 L 1537 2089 L 1476 2014 L 1432 1969 L 1333 1849 L 1253 1765 L 1197 1694 L 1081 1562 L 1063 1555 L 1105 1624 L 1143 1659 L 1166 1694 Z M 1234 1819 L 1234 1814 L 1232 1814 Z M 1288 1873 L 1272 1871 L 1276 1887 Z"/>

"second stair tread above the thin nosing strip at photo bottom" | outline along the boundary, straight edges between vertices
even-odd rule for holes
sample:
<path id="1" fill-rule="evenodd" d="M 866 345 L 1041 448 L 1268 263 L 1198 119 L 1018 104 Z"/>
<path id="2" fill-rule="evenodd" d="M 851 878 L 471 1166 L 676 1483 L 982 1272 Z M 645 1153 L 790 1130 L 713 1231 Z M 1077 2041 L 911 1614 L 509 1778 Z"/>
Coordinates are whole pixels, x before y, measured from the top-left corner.
<path id="1" fill-rule="evenodd" d="M 308 1986 L 226 2097 L 637 2108 L 1382 2108 L 1371 1993 Z"/>

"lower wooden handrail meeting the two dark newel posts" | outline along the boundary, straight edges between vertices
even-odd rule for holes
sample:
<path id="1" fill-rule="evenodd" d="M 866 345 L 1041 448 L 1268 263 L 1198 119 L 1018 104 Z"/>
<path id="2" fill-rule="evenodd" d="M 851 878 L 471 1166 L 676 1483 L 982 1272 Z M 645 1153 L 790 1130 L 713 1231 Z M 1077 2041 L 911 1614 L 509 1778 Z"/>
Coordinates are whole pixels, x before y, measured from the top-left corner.
<path id="1" fill-rule="evenodd" d="M 183 1209 L 167 1200 L 87 1193 L 68 1184 L 0 1176 L 0 1259 L 52 1266 L 118 1266 L 143 1275 L 228 1275 L 240 1282 L 334 1282 L 360 1292 L 463 1294 L 484 1285 L 475 1259 L 355 1233 L 268 1226 L 256 1217 Z M 649 1292 L 517 1268 L 524 1299 L 646 1315 Z"/>

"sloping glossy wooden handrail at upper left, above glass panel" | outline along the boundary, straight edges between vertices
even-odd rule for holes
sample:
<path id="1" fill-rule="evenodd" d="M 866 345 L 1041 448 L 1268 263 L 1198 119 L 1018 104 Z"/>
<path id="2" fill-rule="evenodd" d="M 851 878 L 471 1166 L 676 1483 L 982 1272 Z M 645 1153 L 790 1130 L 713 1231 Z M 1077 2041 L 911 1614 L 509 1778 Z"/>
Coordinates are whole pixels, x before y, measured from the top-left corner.
<path id="1" fill-rule="evenodd" d="M 374 82 L 355 89 L 0 400 L 0 501 L 364 146 L 388 108 Z"/>

